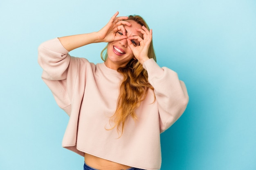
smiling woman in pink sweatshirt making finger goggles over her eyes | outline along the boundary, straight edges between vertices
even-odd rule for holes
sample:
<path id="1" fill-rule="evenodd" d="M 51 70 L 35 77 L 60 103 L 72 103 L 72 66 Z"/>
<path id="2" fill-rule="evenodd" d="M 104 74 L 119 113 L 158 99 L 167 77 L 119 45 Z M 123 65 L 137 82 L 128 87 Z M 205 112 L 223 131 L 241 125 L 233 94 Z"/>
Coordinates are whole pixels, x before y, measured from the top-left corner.
<path id="1" fill-rule="evenodd" d="M 160 133 L 182 115 L 188 94 L 175 72 L 155 62 L 146 22 L 117 15 L 98 32 L 41 44 L 42 78 L 70 116 L 62 145 L 84 157 L 85 170 L 157 170 Z M 68 54 L 98 42 L 108 42 L 103 63 Z"/>

